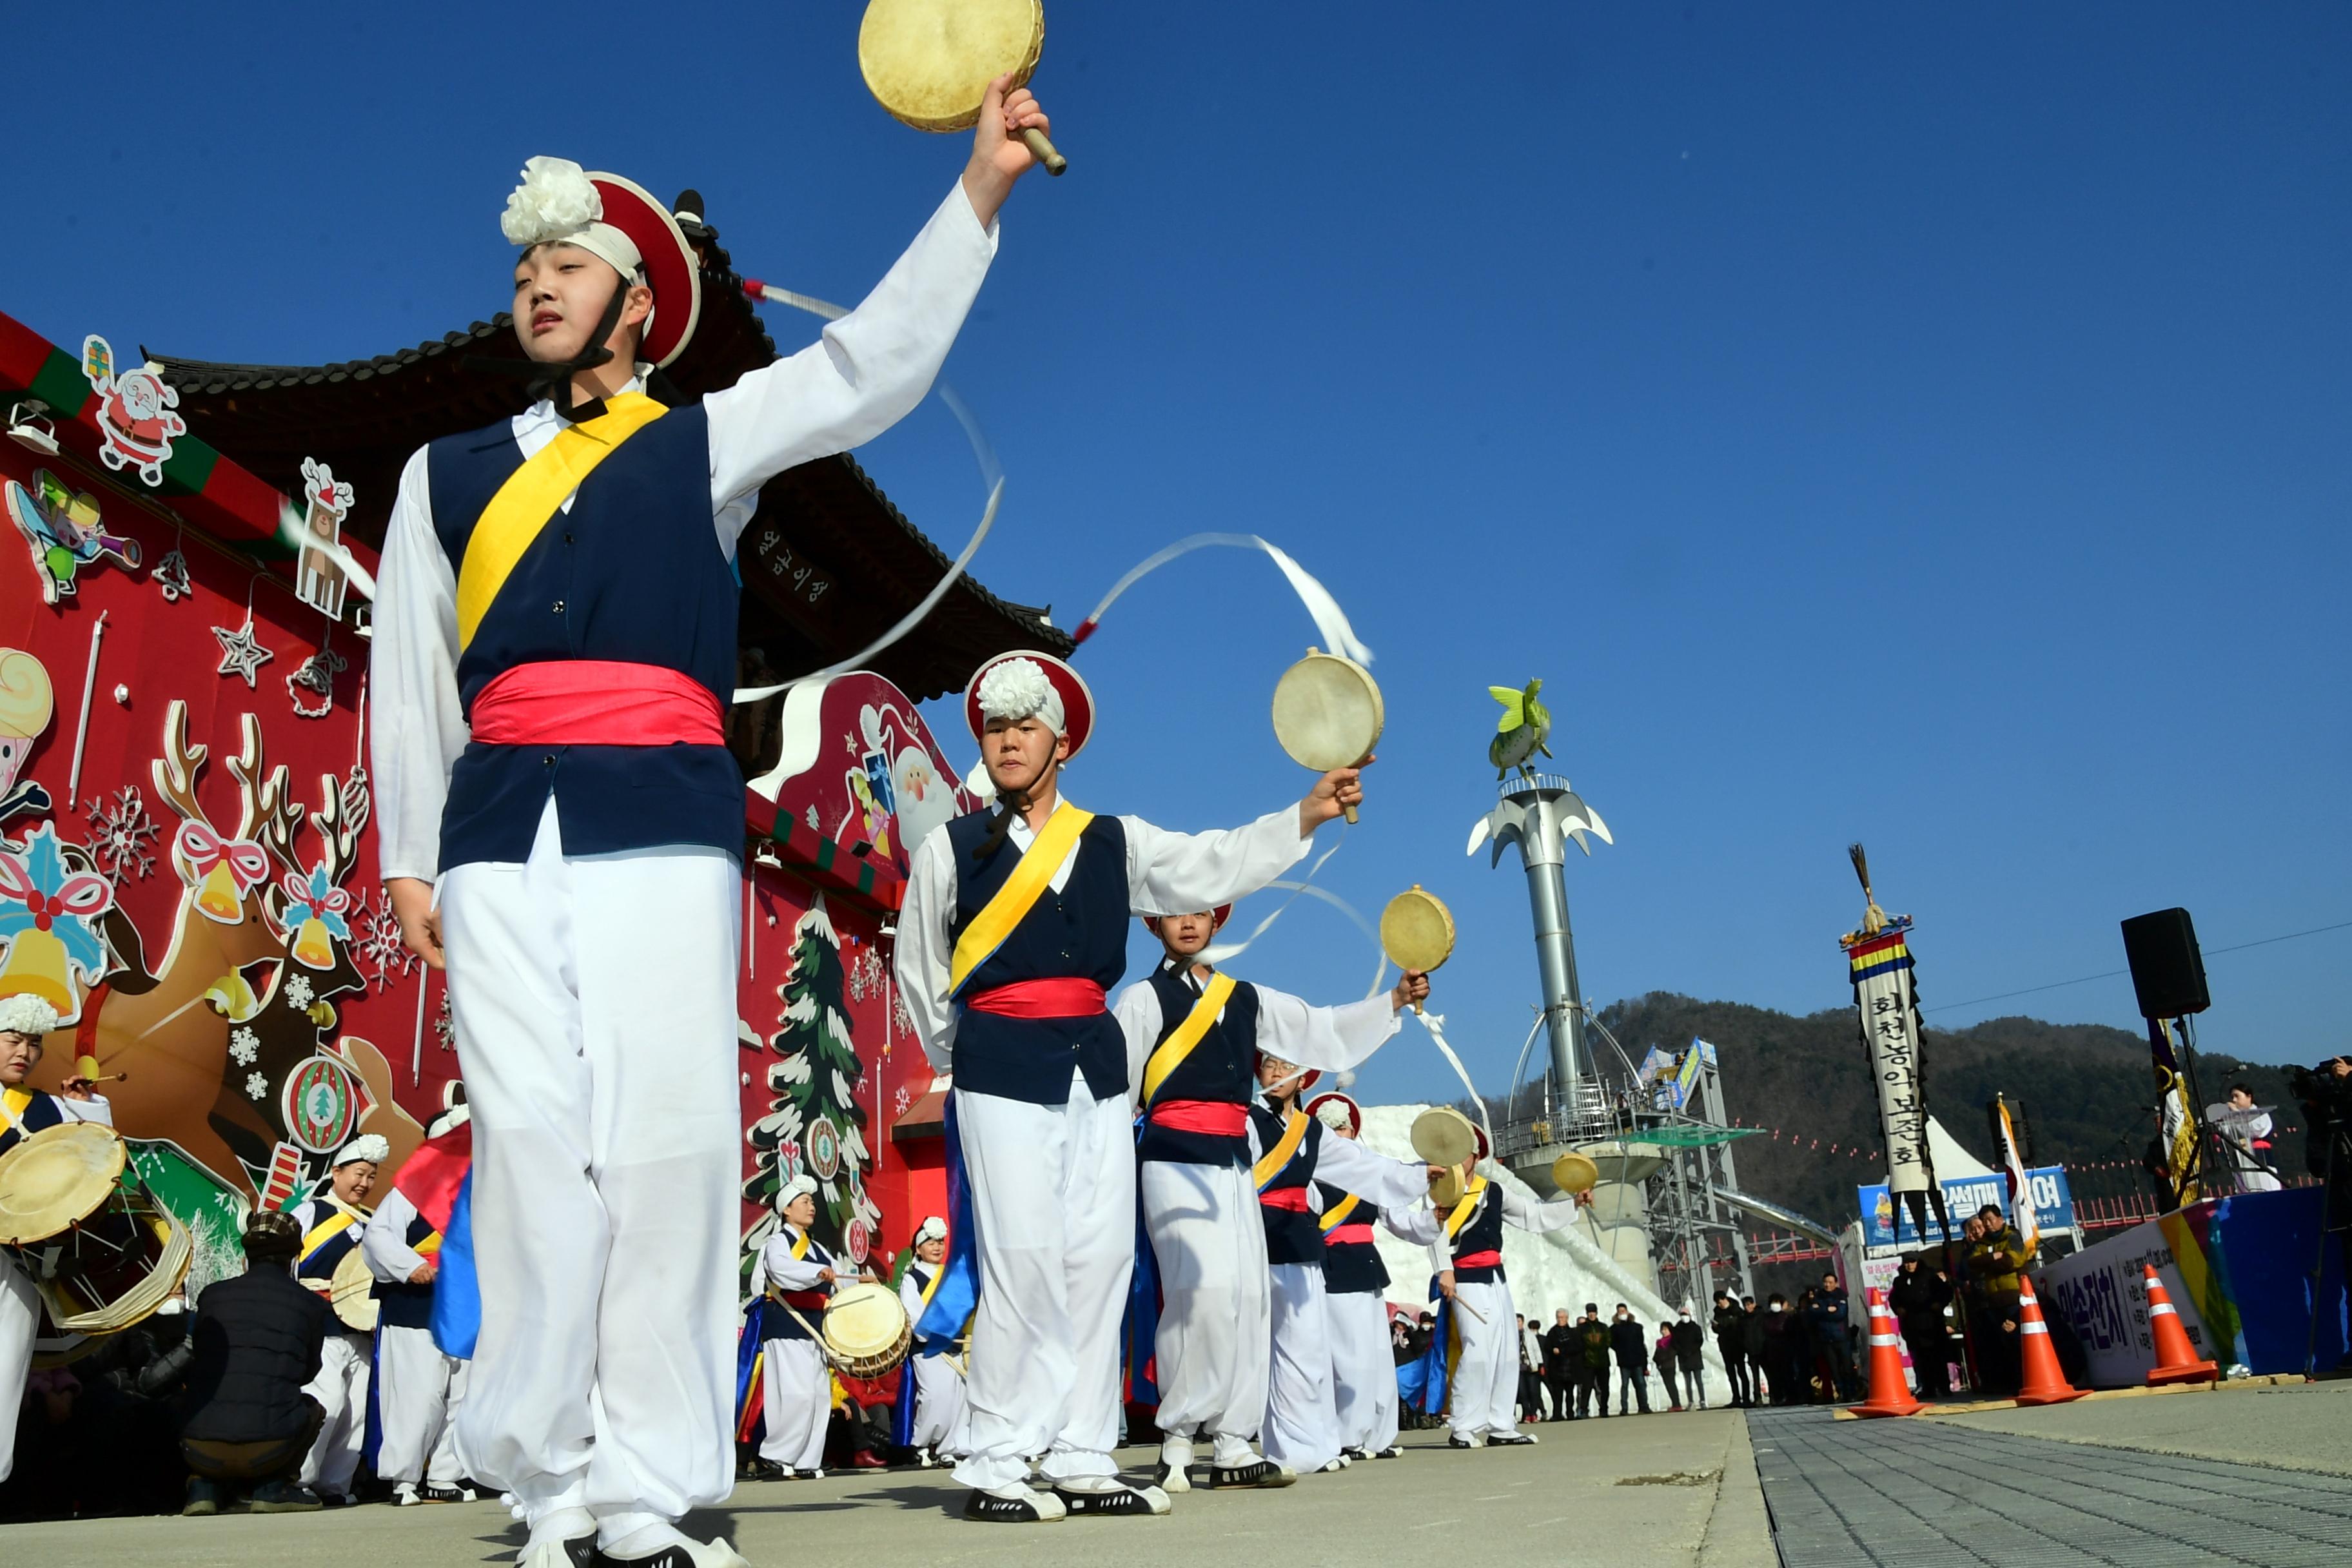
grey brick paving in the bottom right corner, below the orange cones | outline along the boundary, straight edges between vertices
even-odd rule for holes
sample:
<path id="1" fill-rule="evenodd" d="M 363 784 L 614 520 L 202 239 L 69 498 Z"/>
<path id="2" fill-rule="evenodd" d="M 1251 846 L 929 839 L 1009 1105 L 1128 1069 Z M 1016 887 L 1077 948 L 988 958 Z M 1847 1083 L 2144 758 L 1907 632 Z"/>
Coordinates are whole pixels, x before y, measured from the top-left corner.
<path id="1" fill-rule="evenodd" d="M 1750 1439 L 1785 1568 L 2338 1568 L 2352 1387 L 1832 1422 Z"/>

